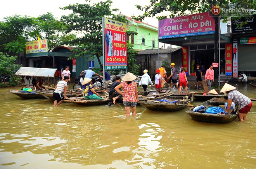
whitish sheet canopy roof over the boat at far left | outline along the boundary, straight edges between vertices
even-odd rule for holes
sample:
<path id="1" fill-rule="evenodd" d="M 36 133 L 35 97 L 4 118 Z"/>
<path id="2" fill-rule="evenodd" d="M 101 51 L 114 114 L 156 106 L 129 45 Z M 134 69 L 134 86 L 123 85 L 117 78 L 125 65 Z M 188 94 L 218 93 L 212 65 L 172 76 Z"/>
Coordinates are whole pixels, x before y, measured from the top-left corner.
<path id="1" fill-rule="evenodd" d="M 35 77 L 54 77 L 54 75 L 58 76 L 57 69 L 29 68 L 29 67 L 21 67 L 15 74 L 19 76 L 35 76 Z"/>

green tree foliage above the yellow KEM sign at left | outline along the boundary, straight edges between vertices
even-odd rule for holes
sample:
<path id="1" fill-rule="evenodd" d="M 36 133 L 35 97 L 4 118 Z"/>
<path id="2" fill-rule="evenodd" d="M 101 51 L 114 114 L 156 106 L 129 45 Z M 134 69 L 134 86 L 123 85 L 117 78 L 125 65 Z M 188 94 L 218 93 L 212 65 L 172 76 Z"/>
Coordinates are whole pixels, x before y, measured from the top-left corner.
<path id="1" fill-rule="evenodd" d="M 25 42 L 36 41 L 38 34 L 41 39 L 48 39 L 48 50 L 56 46 L 69 45 L 75 34 L 67 34 L 64 23 L 54 18 L 51 13 L 39 17 L 14 15 L 5 17 L 0 22 L 0 51 L 15 55 L 25 51 Z"/>

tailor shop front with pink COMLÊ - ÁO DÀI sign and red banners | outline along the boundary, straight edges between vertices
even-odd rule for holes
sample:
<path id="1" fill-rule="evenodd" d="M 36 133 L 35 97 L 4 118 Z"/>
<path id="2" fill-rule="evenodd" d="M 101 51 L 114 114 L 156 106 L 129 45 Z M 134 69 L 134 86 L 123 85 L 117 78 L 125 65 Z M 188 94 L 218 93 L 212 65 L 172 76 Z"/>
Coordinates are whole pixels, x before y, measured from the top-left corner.
<path id="1" fill-rule="evenodd" d="M 202 14 L 175 17 L 159 21 L 159 42 L 183 47 L 182 62 L 185 72 L 194 75 L 196 64 L 205 71 L 214 62 L 214 32 L 215 21 L 209 12 Z M 230 34 L 220 34 L 216 57 L 220 66 L 220 75 L 232 74 L 232 67 L 228 66 L 232 54 Z M 220 51 L 220 52 L 219 52 Z"/>

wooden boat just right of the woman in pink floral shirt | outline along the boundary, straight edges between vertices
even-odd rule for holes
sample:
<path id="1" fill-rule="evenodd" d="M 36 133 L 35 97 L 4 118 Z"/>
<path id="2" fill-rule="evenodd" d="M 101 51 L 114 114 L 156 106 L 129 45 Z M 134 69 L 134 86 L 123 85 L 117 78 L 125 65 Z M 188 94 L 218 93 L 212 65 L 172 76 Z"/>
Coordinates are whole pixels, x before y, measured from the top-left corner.
<path id="1" fill-rule="evenodd" d="M 157 101 L 157 100 L 168 100 L 166 101 Z M 176 103 L 171 103 L 177 101 Z M 140 105 L 145 108 L 153 111 L 164 111 L 164 112 L 175 112 L 186 108 L 188 103 L 193 101 L 193 97 L 188 96 L 185 99 L 182 96 L 164 96 L 158 98 L 149 98 L 148 100 L 139 101 Z"/>

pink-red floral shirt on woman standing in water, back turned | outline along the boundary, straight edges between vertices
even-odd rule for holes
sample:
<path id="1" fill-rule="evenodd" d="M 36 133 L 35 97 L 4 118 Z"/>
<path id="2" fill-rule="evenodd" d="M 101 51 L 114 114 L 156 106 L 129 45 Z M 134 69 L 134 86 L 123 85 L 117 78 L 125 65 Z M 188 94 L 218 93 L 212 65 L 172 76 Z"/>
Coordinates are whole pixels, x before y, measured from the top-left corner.
<path id="1" fill-rule="evenodd" d="M 123 86 L 123 93 L 125 93 L 123 101 L 136 102 L 135 88 L 137 87 L 137 83 L 131 82 L 128 84 L 126 82 L 122 82 L 121 85 Z"/>

